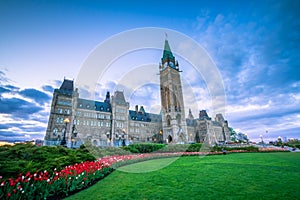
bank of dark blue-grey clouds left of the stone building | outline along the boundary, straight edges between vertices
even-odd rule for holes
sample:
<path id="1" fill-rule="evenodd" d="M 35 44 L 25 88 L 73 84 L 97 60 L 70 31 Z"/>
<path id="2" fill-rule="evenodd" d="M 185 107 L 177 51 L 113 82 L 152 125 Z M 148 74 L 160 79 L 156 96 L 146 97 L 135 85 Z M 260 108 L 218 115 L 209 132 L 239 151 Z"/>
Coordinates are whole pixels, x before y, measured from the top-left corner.
<path id="1" fill-rule="evenodd" d="M 42 139 L 49 117 L 51 97 L 37 89 L 15 86 L 0 71 L 0 140 Z M 45 90 L 50 90 L 46 85 Z M 53 87 L 52 87 L 53 88 Z"/>

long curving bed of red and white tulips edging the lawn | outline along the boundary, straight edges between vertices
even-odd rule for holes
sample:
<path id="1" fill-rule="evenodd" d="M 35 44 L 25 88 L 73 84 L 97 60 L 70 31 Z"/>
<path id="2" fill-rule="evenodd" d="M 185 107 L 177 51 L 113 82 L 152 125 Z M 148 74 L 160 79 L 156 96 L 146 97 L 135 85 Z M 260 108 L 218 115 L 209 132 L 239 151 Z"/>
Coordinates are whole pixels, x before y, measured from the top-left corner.
<path id="1" fill-rule="evenodd" d="M 260 152 L 287 151 L 279 148 L 261 148 Z M 231 150 L 227 153 L 249 152 L 246 150 Z M 106 175 L 114 168 L 140 162 L 143 160 L 195 156 L 195 155 L 218 155 L 222 152 L 175 152 L 175 153 L 148 153 L 123 156 L 107 156 L 96 161 L 86 161 L 66 166 L 60 171 L 43 171 L 19 174 L 16 179 L 1 180 L 0 176 L 0 199 L 59 199 L 69 196 L 77 191 L 89 187 Z"/>

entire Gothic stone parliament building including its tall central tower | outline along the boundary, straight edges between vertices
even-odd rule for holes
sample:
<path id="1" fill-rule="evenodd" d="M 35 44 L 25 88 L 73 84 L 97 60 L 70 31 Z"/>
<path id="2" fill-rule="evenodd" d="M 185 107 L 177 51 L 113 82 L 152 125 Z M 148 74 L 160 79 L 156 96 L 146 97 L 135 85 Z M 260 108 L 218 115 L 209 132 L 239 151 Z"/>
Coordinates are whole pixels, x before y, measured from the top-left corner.
<path id="1" fill-rule="evenodd" d="M 129 109 L 124 91 L 107 92 L 103 101 L 80 98 L 73 80 L 64 79 L 53 92 L 45 145 L 78 147 L 89 141 L 95 146 L 124 146 L 138 142 L 193 143 L 210 146 L 230 141 L 228 122 L 222 114 L 211 119 L 205 110 L 194 117 L 184 110 L 178 61 L 168 40 L 159 64 L 161 112 L 143 106 Z"/>

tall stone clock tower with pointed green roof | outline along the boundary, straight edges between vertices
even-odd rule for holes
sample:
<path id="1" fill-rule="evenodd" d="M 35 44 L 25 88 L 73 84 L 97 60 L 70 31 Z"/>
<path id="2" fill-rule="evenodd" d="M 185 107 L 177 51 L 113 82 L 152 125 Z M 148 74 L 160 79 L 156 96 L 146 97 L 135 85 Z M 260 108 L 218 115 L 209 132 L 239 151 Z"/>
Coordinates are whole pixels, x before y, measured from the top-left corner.
<path id="1" fill-rule="evenodd" d="M 167 143 L 187 142 L 180 72 L 178 62 L 166 39 L 159 75 L 163 138 Z"/>

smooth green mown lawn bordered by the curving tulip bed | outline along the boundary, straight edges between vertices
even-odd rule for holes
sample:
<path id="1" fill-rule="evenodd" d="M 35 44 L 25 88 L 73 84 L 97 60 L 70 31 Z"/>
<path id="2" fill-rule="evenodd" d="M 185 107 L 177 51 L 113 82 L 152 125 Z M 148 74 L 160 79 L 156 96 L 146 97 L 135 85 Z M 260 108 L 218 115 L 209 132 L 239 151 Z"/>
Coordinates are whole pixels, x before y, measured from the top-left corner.
<path id="1" fill-rule="evenodd" d="M 121 167 L 69 199 L 300 199 L 300 153 L 150 160 Z"/>

